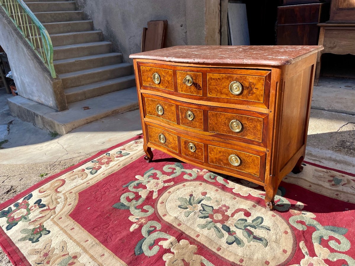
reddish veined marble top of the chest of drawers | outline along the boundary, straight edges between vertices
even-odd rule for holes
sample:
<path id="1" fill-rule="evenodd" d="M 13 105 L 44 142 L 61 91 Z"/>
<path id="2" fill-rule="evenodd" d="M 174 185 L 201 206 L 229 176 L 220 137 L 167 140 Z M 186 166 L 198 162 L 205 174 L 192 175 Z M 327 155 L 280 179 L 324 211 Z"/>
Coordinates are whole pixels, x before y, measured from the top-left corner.
<path id="1" fill-rule="evenodd" d="M 222 63 L 282 66 L 290 65 L 323 46 L 174 46 L 130 55 L 133 59 L 152 59 L 184 63 Z"/>

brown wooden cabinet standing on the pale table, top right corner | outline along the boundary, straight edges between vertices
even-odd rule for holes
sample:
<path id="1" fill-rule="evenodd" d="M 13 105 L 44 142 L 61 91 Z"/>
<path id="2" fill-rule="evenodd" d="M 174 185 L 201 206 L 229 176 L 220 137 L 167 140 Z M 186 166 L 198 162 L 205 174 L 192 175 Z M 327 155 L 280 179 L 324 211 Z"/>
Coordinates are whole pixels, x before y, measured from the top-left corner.
<path id="1" fill-rule="evenodd" d="M 327 23 L 355 23 L 355 0 L 332 0 Z"/>

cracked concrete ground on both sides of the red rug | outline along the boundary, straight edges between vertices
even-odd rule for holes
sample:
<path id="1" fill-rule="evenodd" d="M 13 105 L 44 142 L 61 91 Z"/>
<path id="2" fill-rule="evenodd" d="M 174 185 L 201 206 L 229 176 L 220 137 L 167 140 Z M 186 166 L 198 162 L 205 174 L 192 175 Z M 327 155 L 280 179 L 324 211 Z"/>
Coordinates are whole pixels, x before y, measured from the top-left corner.
<path id="1" fill-rule="evenodd" d="M 355 172 L 355 79 L 322 78 L 314 87 L 306 160 Z M 0 93 L 0 203 L 40 180 L 142 133 L 138 111 L 113 115 L 51 137 L 12 117 Z M 42 177 L 40 176 L 42 174 Z M 47 175 L 43 175 L 47 174 Z M 10 266 L 0 252 L 0 265 Z"/>

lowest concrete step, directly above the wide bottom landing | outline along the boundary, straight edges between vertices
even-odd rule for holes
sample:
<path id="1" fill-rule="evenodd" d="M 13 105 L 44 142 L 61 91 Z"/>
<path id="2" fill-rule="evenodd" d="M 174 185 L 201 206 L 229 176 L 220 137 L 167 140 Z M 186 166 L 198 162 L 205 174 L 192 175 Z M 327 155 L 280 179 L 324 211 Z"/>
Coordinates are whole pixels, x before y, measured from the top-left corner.
<path id="1" fill-rule="evenodd" d="M 72 102 L 81 101 L 99 95 L 104 95 L 118 90 L 130 88 L 134 86 L 135 83 L 135 75 L 91 83 L 79 87 L 66 89 L 65 98 L 67 100 L 67 103 L 70 104 Z"/>

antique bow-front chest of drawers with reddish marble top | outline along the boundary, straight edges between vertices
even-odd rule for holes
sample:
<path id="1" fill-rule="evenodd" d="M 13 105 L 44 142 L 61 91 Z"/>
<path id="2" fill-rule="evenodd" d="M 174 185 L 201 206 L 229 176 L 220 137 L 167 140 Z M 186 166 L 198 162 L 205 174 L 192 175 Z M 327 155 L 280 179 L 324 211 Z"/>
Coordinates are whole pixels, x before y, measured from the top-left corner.
<path id="1" fill-rule="evenodd" d="M 133 54 L 145 159 L 151 148 L 264 186 L 305 156 L 322 46 L 175 46 Z"/>

